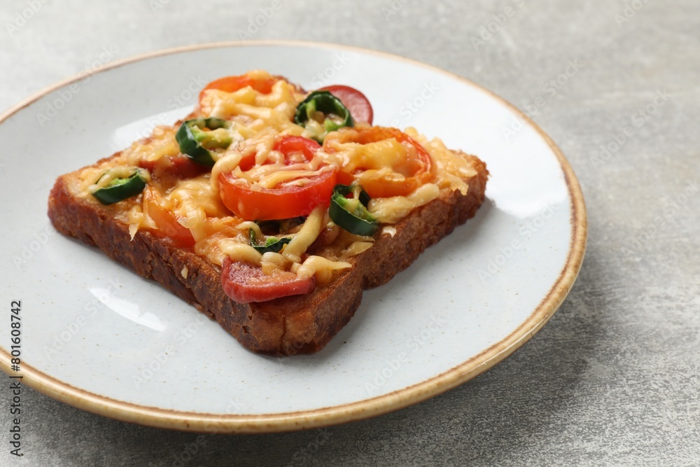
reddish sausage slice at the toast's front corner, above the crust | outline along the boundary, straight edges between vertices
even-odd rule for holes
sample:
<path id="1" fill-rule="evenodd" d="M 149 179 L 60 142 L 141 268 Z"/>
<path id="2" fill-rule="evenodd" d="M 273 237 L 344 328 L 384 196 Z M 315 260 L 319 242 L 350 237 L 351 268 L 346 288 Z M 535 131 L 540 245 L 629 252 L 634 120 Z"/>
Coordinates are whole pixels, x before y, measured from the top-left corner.
<path id="1" fill-rule="evenodd" d="M 311 293 L 316 287 L 314 277 L 302 279 L 293 272 L 265 275 L 262 268 L 243 261 L 223 260 L 221 271 L 223 291 L 239 303 L 267 302 L 275 298 Z"/>

